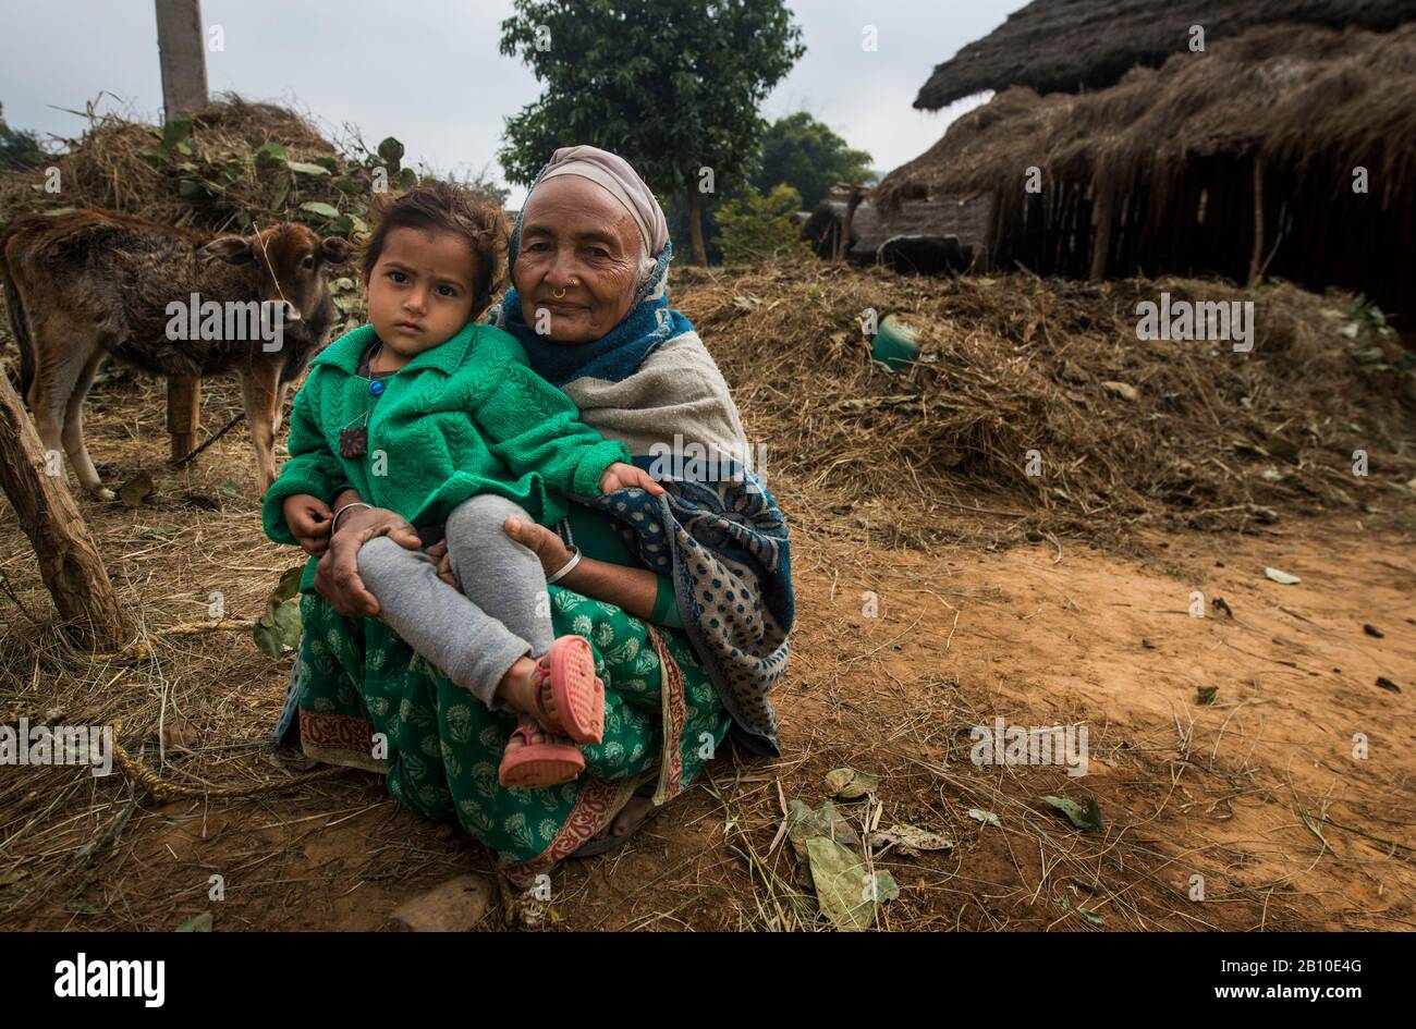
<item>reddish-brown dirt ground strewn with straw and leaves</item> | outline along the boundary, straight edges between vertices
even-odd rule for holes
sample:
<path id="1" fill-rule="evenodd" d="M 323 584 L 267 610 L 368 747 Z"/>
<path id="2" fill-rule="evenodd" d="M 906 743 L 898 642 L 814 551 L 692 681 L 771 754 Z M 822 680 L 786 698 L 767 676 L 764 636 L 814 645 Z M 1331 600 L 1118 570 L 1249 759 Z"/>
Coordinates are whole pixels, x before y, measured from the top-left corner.
<path id="1" fill-rule="evenodd" d="M 208 384 L 205 423 L 235 405 L 232 384 Z M 166 780 L 258 791 L 157 804 L 120 773 L 0 770 L 4 927 L 169 930 L 210 912 L 218 931 L 368 930 L 457 873 L 489 870 L 484 851 L 398 807 L 375 776 L 292 781 L 272 763 L 263 742 L 289 657 L 262 655 L 249 628 L 170 631 L 201 623 L 218 589 L 229 617 L 255 617 L 296 563 L 261 535 L 244 430 L 173 473 L 160 386 L 101 384 L 88 422 L 112 481 L 140 467 L 157 480 L 137 508 L 81 500 L 147 653 L 91 660 L 57 643 L 6 508 L 0 719 L 57 720 L 55 708 L 68 723 L 120 719 L 120 742 Z M 769 483 L 794 518 L 801 483 Z M 719 754 L 624 848 L 558 869 L 535 926 L 823 927 L 800 914 L 777 829 L 786 801 L 820 803 L 843 766 L 881 776 L 872 798 L 840 803 L 855 824 L 954 839 L 872 853 L 901 886 L 881 929 L 1416 926 L 1409 524 L 1344 515 L 1249 536 L 926 552 L 892 546 L 889 510 L 844 502 L 794 535 L 799 624 L 775 694 L 783 757 Z M 1267 566 L 1301 582 L 1272 582 Z M 1206 617 L 1191 616 L 1194 592 Z M 1087 774 L 974 766 L 969 730 L 997 716 L 1086 725 Z M 1104 829 L 1073 828 L 1045 794 L 1095 798 Z M 221 900 L 208 897 L 212 875 Z"/>

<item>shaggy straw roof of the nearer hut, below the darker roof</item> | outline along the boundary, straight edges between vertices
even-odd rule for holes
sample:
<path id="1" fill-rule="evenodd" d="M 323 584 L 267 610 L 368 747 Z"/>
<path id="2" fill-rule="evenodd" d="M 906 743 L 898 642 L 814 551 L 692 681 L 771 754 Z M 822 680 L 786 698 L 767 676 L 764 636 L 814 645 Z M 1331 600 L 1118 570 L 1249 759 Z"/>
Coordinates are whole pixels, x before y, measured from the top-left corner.
<path id="1" fill-rule="evenodd" d="M 875 204 L 998 190 L 1029 167 L 1099 187 L 1189 154 L 1252 151 L 1287 164 L 1365 166 L 1378 183 L 1416 174 L 1416 24 L 1388 34 L 1267 25 L 1204 54 L 1136 68 L 1110 89 L 1038 96 L 1018 86 L 956 120 L 889 173 Z M 1381 174 L 1379 174 L 1381 171 Z"/>

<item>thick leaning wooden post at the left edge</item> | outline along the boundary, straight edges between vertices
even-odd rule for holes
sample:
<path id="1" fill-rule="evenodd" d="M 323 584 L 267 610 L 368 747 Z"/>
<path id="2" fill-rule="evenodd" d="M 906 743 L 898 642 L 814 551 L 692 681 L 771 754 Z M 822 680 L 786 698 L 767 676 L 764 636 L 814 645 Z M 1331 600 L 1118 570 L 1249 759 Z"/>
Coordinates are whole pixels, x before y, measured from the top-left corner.
<path id="1" fill-rule="evenodd" d="M 48 470 L 40 436 L 10 379 L 0 372 L 0 487 L 34 545 L 40 576 L 69 637 L 85 650 L 122 650 L 133 637 L 133 626 L 64 476 L 45 474 Z"/>

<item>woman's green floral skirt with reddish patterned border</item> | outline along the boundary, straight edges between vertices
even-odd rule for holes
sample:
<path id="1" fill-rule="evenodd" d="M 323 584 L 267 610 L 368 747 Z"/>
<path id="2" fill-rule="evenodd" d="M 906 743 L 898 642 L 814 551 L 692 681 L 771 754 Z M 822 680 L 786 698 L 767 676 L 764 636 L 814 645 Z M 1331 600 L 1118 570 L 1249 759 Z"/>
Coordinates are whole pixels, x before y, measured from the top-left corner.
<path id="1" fill-rule="evenodd" d="M 556 636 L 578 633 L 605 681 L 605 739 L 585 773 L 545 790 L 506 788 L 497 766 L 517 718 L 491 712 L 378 619 L 347 619 L 319 593 L 300 599 L 300 736 L 321 761 L 387 771 L 389 794 L 459 822 L 530 882 L 598 834 L 640 783 L 654 803 L 683 791 L 731 725 L 687 638 L 613 604 L 551 586 Z"/>

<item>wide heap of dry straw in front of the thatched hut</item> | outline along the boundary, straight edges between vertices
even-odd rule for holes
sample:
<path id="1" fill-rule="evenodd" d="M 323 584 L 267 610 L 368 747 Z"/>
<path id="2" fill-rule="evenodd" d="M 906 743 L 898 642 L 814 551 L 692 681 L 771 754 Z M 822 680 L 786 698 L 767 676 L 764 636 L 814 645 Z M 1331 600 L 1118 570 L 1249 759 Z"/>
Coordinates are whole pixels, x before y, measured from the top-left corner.
<path id="1" fill-rule="evenodd" d="M 1395 335 L 1349 297 L 1178 279 L 942 282 L 810 262 L 688 269 L 674 290 L 766 449 L 769 487 L 790 473 L 803 488 L 782 498 L 797 521 L 874 501 L 895 535 L 922 542 L 1409 510 L 1416 381 Z M 1253 350 L 1141 341 L 1136 306 L 1161 292 L 1252 300 Z M 923 360 L 905 374 L 872 362 L 867 310 L 916 328 Z M 1029 452 L 1041 474 L 1028 474 Z M 993 514 L 960 522 L 978 510 Z"/>

